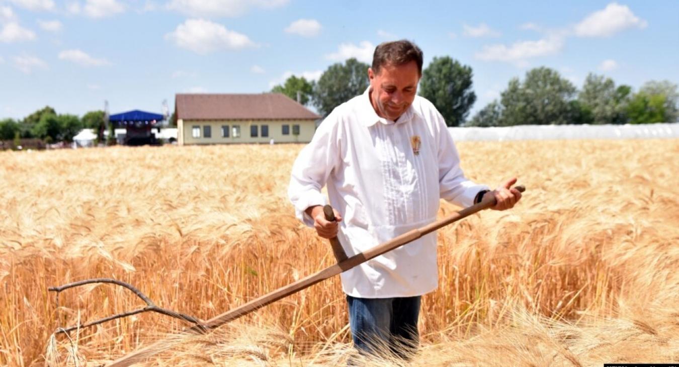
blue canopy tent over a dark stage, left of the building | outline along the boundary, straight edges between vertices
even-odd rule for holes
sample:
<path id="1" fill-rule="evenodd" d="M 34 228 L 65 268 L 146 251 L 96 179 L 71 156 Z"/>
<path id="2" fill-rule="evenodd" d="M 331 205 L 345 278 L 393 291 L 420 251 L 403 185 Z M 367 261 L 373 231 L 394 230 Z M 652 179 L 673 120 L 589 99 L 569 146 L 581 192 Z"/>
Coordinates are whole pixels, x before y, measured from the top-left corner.
<path id="1" fill-rule="evenodd" d="M 156 144 L 157 140 L 155 135 L 151 134 L 151 128 L 158 126 L 160 129 L 160 121 L 164 119 L 165 117 L 160 113 L 139 110 L 109 116 L 109 122 L 113 123 L 116 128 L 125 128 L 124 144 L 126 145 Z"/>

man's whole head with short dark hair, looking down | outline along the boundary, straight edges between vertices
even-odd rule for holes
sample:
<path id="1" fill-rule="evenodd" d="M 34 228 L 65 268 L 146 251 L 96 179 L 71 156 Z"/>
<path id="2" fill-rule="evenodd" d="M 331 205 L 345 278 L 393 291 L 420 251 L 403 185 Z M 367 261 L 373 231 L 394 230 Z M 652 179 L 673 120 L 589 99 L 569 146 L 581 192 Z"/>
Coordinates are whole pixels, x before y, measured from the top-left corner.
<path id="1" fill-rule="evenodd" d="M 375 48 L 368 69 L 375 112 L 396 121 L 415 100 L 422 76 L 422 50 L 410 41 L 385 42 Z"/>

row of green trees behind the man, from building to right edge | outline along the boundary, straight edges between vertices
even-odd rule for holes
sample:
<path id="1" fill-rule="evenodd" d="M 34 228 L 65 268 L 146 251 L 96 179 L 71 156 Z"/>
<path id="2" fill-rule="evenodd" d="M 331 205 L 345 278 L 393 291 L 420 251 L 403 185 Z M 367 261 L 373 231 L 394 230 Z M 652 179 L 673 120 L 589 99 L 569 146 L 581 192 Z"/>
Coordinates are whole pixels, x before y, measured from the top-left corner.
<path id="1" fill-rule="evenodd" d="M 323 115 L 368 88 L 368 64 L 350 58 L 329 66 L 318 81 L 292 75 L 274 86 Z M 435 57 L 422 71 L 419 94 L 430 100 L 449 126 L 509 126 L 561 124 L 623 124 L 675 122 L 679 117 L 677 85 L 648 81 L 633 92 L 629 85 L 590 73 L 578 90 L 558 71 L 541 66 L 526 72 L 523 80 L 511 79 L 500 98 L 471 119 L 476 102 L 471 66 L 449 56 Z"/>

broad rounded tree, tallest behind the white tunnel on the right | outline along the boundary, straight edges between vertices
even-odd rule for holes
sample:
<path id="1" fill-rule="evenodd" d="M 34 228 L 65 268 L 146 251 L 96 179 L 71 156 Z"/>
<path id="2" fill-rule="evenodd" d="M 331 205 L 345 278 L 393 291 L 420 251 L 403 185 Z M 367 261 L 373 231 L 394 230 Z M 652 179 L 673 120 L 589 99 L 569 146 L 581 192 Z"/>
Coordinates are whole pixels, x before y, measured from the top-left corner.
<path id="1" fill-rule="evenodd" d="M 554 69 L 531 69 L 524 82 L 513 78 L 501 94 L 501 125 L 572 123 L 575 87 Z"/>

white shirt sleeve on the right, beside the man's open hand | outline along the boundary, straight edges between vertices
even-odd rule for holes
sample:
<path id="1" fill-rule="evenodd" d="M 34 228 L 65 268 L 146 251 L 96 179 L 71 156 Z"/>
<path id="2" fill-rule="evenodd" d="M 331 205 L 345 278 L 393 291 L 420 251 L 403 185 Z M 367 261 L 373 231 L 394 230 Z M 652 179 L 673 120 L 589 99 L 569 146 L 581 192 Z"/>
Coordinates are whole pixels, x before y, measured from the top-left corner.
<path id="1" fill-rule="evenodd" d="M 479 185 L 464 176 L 460 168 L 460 155 L 443 116 L 435 113 L 439 130 L 439 191 L 441 198 L 466 208 L 474 204 L 474 198 L 488 186 Z"/>

